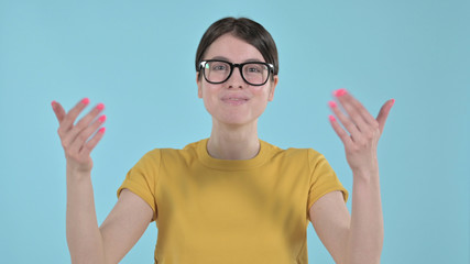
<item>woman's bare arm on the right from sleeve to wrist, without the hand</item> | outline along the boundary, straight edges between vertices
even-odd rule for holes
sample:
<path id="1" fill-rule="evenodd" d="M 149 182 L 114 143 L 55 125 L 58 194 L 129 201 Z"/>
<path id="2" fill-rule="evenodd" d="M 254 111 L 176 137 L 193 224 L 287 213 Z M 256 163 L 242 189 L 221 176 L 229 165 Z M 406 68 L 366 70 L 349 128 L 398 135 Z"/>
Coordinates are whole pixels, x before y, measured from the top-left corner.
<path id="1" fill-rule="evenodd" d="M 384 234 L 379 183 L 354 179 L 351 208 L 350 216 L 341 191 L 319 198 L 309 210 L 318 238 L 338 264 L 380 263 Z"/>

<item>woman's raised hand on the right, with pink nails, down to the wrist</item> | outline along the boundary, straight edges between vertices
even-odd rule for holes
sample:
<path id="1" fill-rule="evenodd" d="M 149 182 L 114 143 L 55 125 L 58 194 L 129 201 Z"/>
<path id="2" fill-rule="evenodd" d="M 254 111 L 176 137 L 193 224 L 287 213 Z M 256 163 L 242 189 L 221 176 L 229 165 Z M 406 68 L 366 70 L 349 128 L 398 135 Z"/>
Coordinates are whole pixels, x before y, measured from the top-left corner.
<path id="1" fill-rule="evenodd" d="M 348 116 L 338 108 L 335 101 L 329 101 L 329 106 L 349 133 L 341 128 L 334 116 L 330 116 L 330 122 L 332 129 L 345 144 L 346 160 L 353 175 L 379 173 L 378 143 L 395 100 L 386 101 L 380 109 L 376 119 L 374 119 L 362 103 L 346 89 L 336 90 L 334 96 L 341 103 Z"/>

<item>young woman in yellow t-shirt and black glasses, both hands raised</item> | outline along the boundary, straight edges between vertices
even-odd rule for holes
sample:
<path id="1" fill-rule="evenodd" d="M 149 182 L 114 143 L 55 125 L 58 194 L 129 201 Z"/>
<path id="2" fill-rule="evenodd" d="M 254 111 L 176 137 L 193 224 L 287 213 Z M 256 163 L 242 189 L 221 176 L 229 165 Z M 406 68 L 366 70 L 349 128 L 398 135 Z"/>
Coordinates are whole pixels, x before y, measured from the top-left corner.
<path id="1" fill-rule="evenodd" d="M 376 146 L 394 100 L 374 119 L 345 89 L 330 101 L 332 129 L 353 175 L 348 191 L 313 148 L 281 150 L 258 136 L 258 119 L 274 97 L 277 51 L 249 19 L 226 18 L 204 34 L 196 54 L 198 96 L 212 116 L 209 139 L 183 150 L 155 148 L 132 167 L 118 202 L 98 227 L 90 152 L 106 116 L 89 103 L 68 112 L 53 101 L 67 163 L 67 242 L 73 263 L 118 263 L 152 221 L 155 263 L 307 263 L 311 221 L 337 263 L 379 263 L 383 244 Z M 343 124 L 346 131 L 340 127 Z M 95 133 L 96 132 L 96 133 Z"/>

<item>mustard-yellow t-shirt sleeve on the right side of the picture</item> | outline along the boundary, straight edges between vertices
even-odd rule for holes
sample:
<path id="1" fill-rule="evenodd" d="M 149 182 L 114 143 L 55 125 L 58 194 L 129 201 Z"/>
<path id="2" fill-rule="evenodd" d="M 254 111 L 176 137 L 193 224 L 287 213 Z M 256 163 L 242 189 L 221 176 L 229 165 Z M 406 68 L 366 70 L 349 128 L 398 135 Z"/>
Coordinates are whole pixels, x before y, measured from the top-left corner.
<path id="1" fill-rule="evenodd" d="M 348 190 L 339 182 L 325 156 L 309 148 L 308 158 L 310 164 L 310 189 L 308 191 L 307 216 L 315 201 L 330 191 L 342 191 L 342 197 L 345 202 L 347 202 Z"/>

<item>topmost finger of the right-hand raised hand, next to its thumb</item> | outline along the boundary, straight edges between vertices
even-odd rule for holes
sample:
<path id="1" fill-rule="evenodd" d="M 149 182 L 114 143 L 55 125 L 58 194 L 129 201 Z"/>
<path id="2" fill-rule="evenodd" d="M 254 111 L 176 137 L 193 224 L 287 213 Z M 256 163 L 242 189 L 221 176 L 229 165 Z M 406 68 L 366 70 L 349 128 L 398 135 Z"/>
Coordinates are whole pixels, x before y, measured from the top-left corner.
<path id="1" fill-rule="evenodd" d="M 370 125 L 378 127 L 375 119 L 365 110 L 365 108 L 357 99 L 354 99 L 346 89 L 339 89 L 335 94 L 342 108 L 346 110 L 350 119 L 358 127 L 359 131 L 370 133 Z M 368 117 L 370 116 L 370 118 Z M 370 120 L 368 120 L 370 119 Z"/>

